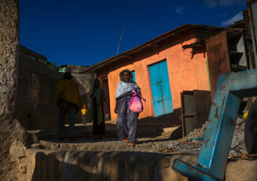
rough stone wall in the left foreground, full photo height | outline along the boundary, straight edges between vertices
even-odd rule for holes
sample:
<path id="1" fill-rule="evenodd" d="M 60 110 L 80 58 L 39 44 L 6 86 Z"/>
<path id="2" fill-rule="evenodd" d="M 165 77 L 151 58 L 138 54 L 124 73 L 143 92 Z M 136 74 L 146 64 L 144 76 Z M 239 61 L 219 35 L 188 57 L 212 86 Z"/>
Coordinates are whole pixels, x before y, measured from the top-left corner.
<path id="1" fill-rule="evenodd" d="M 26 130 L 15 118 L 19 21 L 19 1 L 0 1 L 0 180 L 20 177 L 17 160 L 9 155 L 9 150 L 14 141 L 27 142 Z"/>

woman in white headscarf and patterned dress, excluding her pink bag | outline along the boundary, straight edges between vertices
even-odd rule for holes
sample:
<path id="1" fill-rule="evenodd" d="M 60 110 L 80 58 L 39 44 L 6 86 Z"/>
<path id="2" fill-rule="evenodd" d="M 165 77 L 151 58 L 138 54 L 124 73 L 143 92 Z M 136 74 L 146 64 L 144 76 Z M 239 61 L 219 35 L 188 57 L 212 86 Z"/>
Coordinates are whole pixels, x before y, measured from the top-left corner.
<path id="1" fill-rule="evenodd" d="M 133 98 L 132 90 L 139 94 L 140 88 L 133 81 L 134 75 L 129 70 L 123 70 L 119 73 L 120 82 L 116 91 L 116 105 L 114 112 L 117 113 L 116 131 L 120 141 L 131 142 L 136 145 L 137 142 L 137 123 L 139 113 L 130 110 L 129 102 Z"/>

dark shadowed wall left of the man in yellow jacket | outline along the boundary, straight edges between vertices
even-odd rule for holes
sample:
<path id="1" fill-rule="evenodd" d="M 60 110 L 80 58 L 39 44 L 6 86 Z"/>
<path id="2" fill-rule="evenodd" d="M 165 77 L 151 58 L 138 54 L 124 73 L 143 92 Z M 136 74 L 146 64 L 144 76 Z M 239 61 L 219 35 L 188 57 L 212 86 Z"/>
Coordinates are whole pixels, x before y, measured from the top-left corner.
<path id="1" fill-rule="evenodd" d="M 22 45 L 18 67 L 17 118 L 27 130 L 57 127 L 55 90 L 63 73 L 47 69 L 47 57 Z"/>

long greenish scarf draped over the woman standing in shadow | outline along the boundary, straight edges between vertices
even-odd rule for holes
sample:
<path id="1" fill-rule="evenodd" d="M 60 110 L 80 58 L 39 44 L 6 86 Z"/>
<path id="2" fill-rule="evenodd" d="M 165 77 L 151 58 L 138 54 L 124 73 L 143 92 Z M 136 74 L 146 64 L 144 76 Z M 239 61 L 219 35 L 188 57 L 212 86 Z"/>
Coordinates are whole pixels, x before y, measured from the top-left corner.
<path id="1" fill-rule="evenodd" d="M 95 87 L 95 80 L 99 81 L 99 87 L 96 89 Z M 95 93 L 95 91 L 97 90 L 97 104 L 101 101 L 101 97 L 102 97 L 102 84 L 101 81 L 99 79 L 95 79 L 94 83 L 93 83 L 93 89 L 92 89 L 92 93 Z M 90 113 L 92 116 L 94 116 L 95 112 L 94 112 L 94 102 L 93 102 L 93 97 L 91 97 L 91 106 L 90 106 Z M 101 123 L 104 121 L 103 119 L 103 112 L 102 112 L 102 104 L 99 104 L 97 106 L 97 124 L 101 125 Z"/>

